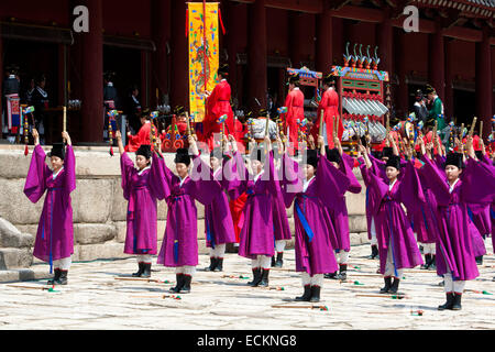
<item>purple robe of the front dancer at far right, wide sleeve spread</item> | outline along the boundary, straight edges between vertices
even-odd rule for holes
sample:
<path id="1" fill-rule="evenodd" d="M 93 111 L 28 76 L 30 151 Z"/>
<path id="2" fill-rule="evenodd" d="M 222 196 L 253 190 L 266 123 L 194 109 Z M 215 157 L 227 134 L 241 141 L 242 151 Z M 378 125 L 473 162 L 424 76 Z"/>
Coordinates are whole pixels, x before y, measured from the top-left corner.
<path id="1" fill-rule="evenodd" d="M 493 200 L 493 175 L 470 158 L 461 179 L 450 193 L 444 174 L 429 158 L 422 156 L 422 161 L 428 187 L 433 191 L 438 205 L 436 217 L 440 231 L 437 238 L 437 274 L 450 272 L 454 280 L 474 279 L 480 273 L 474 260 L 473 231 L 470 230 L 466 204 Z"/>

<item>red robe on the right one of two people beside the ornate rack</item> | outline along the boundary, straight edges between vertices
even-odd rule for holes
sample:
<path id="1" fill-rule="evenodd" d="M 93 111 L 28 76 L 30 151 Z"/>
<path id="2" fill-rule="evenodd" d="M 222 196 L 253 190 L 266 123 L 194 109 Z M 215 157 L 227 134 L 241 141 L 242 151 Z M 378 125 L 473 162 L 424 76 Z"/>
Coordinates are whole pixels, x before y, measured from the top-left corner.
<path id="1" fill-rule="evenodd" d="M 318 134 L 320 132 L 320 116 L 323 111 L 323 120 L 327 124 L 327 141 L 328 146 L 333 148 L 333 119 L 339 117 L 339 95 L 334 89 L 327 89 L 321 97 L 320 105 L 318 106 L 317 119 L 311 129 L 311 134 L 315 141 L 318 140 Z M 342 119 L 339 119 L 338 135 L 339 140 L 342 139 L 343 134 L 343 123 Z"/>

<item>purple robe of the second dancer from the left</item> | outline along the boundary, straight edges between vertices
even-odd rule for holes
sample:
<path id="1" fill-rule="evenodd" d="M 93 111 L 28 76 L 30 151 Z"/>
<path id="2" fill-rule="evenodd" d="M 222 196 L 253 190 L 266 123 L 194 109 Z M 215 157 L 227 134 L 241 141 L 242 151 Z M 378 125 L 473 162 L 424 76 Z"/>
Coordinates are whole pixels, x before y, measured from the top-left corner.
<path id="1" fill-rule="evenodd" d="M 124 253 L 156 254 L 156 199 L 165 197 L 160 187 L 163 168 L 153 153 L 150 168 L 141 174 L 128 153 L 120 157 L 123 197 L 128 204 Z"/>

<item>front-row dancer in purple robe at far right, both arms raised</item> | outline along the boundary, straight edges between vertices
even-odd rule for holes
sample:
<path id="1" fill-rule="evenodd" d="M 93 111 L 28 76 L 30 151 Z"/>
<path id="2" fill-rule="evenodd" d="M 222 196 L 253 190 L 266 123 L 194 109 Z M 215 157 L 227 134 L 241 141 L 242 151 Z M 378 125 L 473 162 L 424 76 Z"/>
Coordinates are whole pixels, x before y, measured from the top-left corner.
<path id="1" fill-rule="evenodd" d="M 460 310 L 465 282 L 480 275 L 469 229 L 468 204 L 493 201 L 495 178 L 475 161 L 472 140 L 472 136 L 468 138 L 469 158 L 465 164 L 460 153 L 447 155 L 446 174 L 439 172 L 425 155 L 425 143 L 419 141 L 426 182 L 437 198 L 436 217 L 440 230 L 437 238 L 437 274 L 443 276 L 447 296 L 439 310 Z"/>

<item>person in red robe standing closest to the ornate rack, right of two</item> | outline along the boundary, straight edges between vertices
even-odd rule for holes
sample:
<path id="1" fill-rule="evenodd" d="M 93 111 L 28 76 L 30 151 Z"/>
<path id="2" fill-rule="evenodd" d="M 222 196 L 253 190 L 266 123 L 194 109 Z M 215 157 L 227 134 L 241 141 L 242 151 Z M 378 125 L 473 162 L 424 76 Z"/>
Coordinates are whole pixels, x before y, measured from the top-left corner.
<path id="1" fill-rule="evenodd" d="M 320 131 L 320 117 L 323 111 L 323 133 L 324 145 L 329 148 L 333 148 L 333 120 L 339 117 L 339 95 L 336 91 L 336 78 L 332 75 L 328 75 L 323 78 L 323 95 L 321 96 L 320 103 L 317 110 L 317 119 L 311 128 L 311 135 L 315 140 L 318 140 Z M 338 136 L 342 139 L 343 124 L 342 119 L 339 118 Z"/>

